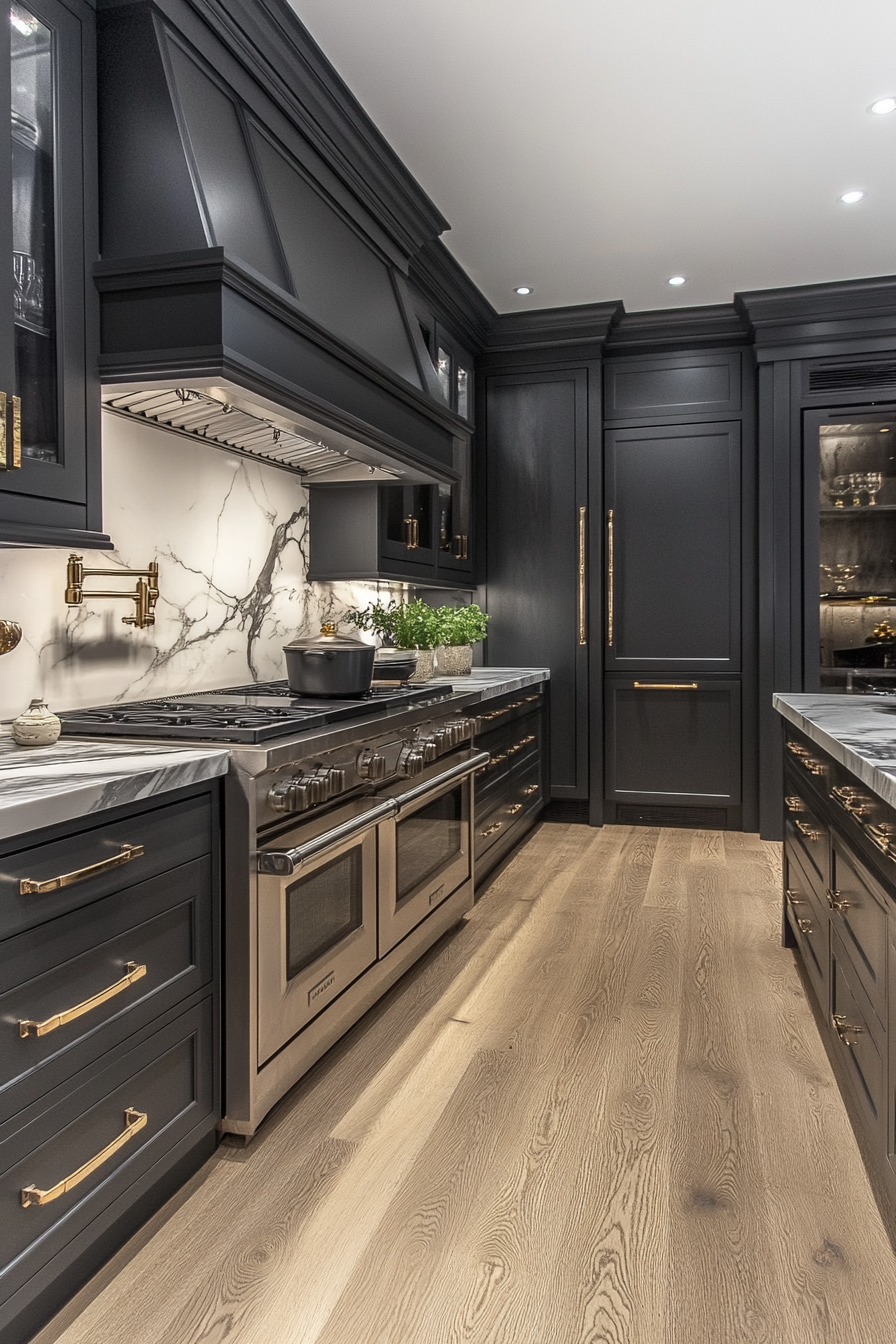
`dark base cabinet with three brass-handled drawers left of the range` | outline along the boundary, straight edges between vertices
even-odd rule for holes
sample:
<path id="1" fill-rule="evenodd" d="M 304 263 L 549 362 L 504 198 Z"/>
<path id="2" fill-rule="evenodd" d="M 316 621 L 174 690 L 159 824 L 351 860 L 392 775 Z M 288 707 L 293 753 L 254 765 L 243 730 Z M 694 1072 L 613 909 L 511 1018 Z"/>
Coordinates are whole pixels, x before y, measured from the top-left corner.
<path id="1" fill-rule="evenodd" d="M 218 839 L 214 784 L 0 845 L 0 1344 L 215 1148 Z"/>

